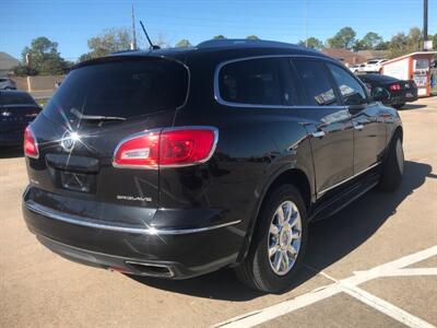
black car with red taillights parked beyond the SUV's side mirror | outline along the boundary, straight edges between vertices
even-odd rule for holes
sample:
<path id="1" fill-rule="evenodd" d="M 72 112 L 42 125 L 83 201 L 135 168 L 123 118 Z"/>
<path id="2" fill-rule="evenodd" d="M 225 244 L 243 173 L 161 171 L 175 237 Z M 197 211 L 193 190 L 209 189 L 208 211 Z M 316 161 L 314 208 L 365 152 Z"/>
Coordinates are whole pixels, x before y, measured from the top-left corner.
<path id="1" fill-rule="evenodd" d="M 403 81 L 378 73 L 359 74 L 358 79 L 366 84 L 370 93 L 376 87 L 386 90 L 389 96 L 383 103 L 397 109 L 402 108 L 405 103 L 417 101 L 417 85 L 413 80 Z"/>

